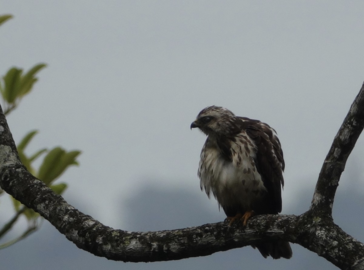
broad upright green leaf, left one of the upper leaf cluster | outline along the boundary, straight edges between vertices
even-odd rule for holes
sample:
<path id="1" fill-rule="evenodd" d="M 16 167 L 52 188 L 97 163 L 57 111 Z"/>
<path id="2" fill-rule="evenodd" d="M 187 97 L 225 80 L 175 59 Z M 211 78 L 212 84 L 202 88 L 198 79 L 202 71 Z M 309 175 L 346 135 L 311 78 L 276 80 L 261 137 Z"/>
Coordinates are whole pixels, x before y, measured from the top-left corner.
<path id="1" fill-rule="evenodd" d="M 16 99 L 22 72 L 22 69 L 13 67 L 8 70 L 5 76 L 3 76 L 4 88 L 1 89 L 1 94 L 3 95 L 4 100 L 8 103 L 14 103 Z"/>

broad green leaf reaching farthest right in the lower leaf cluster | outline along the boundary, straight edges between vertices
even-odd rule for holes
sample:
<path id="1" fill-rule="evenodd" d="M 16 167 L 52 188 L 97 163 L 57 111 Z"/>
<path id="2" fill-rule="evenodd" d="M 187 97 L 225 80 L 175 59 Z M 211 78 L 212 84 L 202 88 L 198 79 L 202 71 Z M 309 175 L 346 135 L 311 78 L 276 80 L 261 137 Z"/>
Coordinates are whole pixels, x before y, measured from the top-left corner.
<path id="1" fill-rule="evenodd" d="M 80 151 L 70 151 L 67 153 L 60 147 L 52 149 L 44 157 L 43 163 L 40 165 L 38 178 L 47 185 L 51 184 L 68 166 L 78 165 L 76 157 L 80 153 Z"/>

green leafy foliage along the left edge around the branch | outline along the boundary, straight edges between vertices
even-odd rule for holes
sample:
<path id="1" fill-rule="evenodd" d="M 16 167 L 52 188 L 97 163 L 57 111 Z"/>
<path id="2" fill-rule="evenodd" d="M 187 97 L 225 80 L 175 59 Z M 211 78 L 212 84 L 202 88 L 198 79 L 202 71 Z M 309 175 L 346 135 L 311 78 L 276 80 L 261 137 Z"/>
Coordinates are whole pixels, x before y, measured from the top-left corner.
<path id="1" fill-rule="evenodd" d="M 11 18 L 12 15 L 0 16 L 0 25 Z M 23 69 L 21 68 L 12 67 L 1 78 L 0 93 L 1 97 L 3 98 L 5 115 L 9 114 L 13 109 L 15 109 L 19 105 L 20 100 L 31 92 L 34 84 L 38 80 L 36 74 L 45 67 L 46 64 L 44 63 L 36 64 L 26 73 L 24 73 Z M 37 130 L 28 132 L 17 145 L 17 151 L 19 153 L 20 160 L 27 170 L 33 174 L 33 176 L 43 181 L 55 193 L 62 194 L 66 190 L 67 184 L 63 182 L 54 184 L 54 181 L 57 180 L 67 170 L 67 168 L 72 165 L 78 165 L 76 158 L 81 152 L 78 150 L 67 152 L 62 147 L 57 146 L 51 150 L 42 148 L 28 156 L 25 153 L 25 149 L 37 133 Z M 41 162 L 39 169 L 35 169 L 33 163 L 44 154 L 45 156 L 43 157 L 43 161 Z M 2 193 L 3 190 L 0 189 L 0 195 Z M 19 237 L 0 244 L 0 249 L 8 247 L 20 241 L 21 239 L 24 239 L 29 234 L 39 229 L 43 219 L 38 213 L 25 207 L 13 197 L 12 202 L 16 213 L 14 217 L 5 223 L 5 225 L 0 229 L 0 239 L 12 229 L 21 215 L 26 217 L 28 221 L 28 227 Z"/>

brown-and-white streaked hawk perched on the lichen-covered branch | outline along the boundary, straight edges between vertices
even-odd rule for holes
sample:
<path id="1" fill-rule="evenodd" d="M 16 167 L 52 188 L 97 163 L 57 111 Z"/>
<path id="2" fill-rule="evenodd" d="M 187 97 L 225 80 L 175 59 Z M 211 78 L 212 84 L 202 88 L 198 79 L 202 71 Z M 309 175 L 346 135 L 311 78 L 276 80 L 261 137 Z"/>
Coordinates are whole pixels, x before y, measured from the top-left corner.
<path id="1" fill-rule="evenodd" d="M 282 210 L 284 160 L 276 131 L 259 120 L 235 116 L 230 110 L 209 106 L 191 124 L 207 135 L 198 167 L 201 190 L 217 199 L 230 225 L 244 226 L 253 214 Z M 255 246 L 266 258 L 292 257 L 289 242 L 271 241 Z"/>

